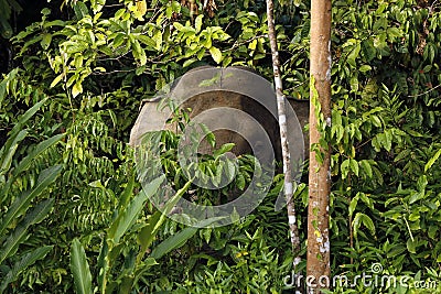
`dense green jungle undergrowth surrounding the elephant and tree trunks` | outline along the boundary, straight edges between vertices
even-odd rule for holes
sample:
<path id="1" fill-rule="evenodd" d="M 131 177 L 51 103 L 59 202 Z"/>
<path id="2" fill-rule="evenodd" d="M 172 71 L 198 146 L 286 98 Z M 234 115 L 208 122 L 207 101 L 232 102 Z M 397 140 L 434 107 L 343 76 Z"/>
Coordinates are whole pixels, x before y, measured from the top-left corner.
<path id="1" fill-rule="evenodd" d="M 125 230 L 115 225 L 147 193 L 127 145 L 142 99 L 198 65 L 247 65 L 271 79 L 265 1 L 216 1 L 217 10 L 200 1 L 197 9 L 191 1 L 157 0 L 147 8 L 128 0 L 58 2 L 65 12 L 56 15 L 44 9 L 40 21 L 11 39 L 13 68 L 0 84 L 6 293 L 72 293 L 73 257 L 84 269 L 87 261 L 90 274 L 84 270 L 82 281 L 99 291 L 104 280 L 108 288 L 133 293 L 290 291 L 283 285 L 292 259 L 286 214 L 273 210 L 280 176 L 252 214 L 228 227 L 191 231 L 153 218 L 151 205 L 137 210 Z M 380 264 L 374 273 L 408 277 L 407 287 L 358 280 L 335 293 L 441 292 L 440 6 L 333 1 L 326 133 L 333 148 L 332 273 L 351 282 Z M 309 1 L 279 1 L 276 11 L 286 94 L 308 99 Z M 23 119 L 35 105 L 40 109 Z M 176 138 L 168 135 L 163 156 L 176 166 Z M 244 157 L 241 164 L 247 171 L 254 161 Z M 173 171 L 169 182 L 185 187 L 183 194 L 192 189 Z M 29 194 L 32 202 L 12 214 L 17 199 Z M 304 250 L 304 183 L 295 197 Z M 161 225 L 155 230 L 152 220 Z M 151 240 L 137 241 L 149 228 Z M 179 237 L 185 242 L 165 250 L 161 243 L 171 244 L 166 240 L 176 232 L 184 232 Z M 29 259 L 32 252 L 39 260 Z M 418 281 L 438 288 L 418 288 Z"/>

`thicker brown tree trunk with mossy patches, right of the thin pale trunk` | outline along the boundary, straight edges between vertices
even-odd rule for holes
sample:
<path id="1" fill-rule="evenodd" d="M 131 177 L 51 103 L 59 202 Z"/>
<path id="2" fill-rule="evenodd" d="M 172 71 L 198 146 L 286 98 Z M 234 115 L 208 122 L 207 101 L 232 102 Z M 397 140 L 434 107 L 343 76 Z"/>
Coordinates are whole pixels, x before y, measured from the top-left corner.
<path id="1" fill-rule="evenodd" d="M 331 152 L 331 0 L 311 1 L 310 171 L 308 207 L 308 293 L 327 288 L 330 277 L 329 205 Z"/>

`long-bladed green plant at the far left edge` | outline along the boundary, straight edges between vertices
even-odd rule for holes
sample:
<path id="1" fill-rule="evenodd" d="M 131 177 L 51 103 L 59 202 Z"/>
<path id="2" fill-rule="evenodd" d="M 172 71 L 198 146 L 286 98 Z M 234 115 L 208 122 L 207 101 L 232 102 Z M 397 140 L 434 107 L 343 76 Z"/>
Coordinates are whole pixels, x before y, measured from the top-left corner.
<path id="1" fill-rule="evenodd" d="M 4 80 L 2 85 L 6 85 Z M 20 117 L 19 122 L 9 133 L 4 145 L 0 149 L 0 206 L 7 206 L 6 210 L 3 210 L 4 208 L 2 209 L 3 214 L 0 219 L 0 265 L 3 268 L 0 271 L 2 281 L 0 283 L 0 293 L 3 293 L 11 283 L 15 282 L 26 268 L 36 260 L 44 258 L 52 250 L 51 246 L 42 246 L 31 252 L 20 254 L 20 257 L 15 255 L 19 247 L 30 238 L 30 227 L 47 217 L 54 204 L 54 199 L 50 198 L 31 208 L 32 202 L 46 192 L 62 172 L 62 165 L 51 166 L 40 173 L 36 183 L 32 187 L 23 190 L 18 196 L 14 195 L 12 186 L 23 171 L 28 170 L 44 150 L 62 139 L 62 135 L 54 135 L 39 143 L 15 166 L 12 166 L 19 144 L 28 134 L 24 124 L 44 102 L 45 100 L 42 100 L 34 105 Z M 14 263 L 11 268 L 7 265 L 7 262 L 13 261 Z"/>

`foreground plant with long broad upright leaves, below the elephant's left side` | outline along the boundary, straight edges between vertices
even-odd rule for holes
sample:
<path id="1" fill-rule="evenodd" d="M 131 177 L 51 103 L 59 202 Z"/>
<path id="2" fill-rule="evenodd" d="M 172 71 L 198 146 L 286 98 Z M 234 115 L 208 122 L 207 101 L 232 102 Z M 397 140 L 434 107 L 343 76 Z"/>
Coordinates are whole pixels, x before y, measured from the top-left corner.
<path id="1" fill-rule="evenodd" d="M 151 266 L 158 264 L 155 260 L 172 250 L 179 249 L 196 233 L 196 228 L 186 228 L 159 243 L 153 250 L 150 249 L 151 241 L 159 232 L 165 215 L 157 211 L 157 214 L 141 218 L 139 214 L 144 208 L 148 198 L 158 193 L 163 182 L 163 176 L 158 177 L 147 184 L 130 203 L 120 203 L 115 219 L 104 237 L 97 269 L 95 270 L 97 276 L 94 288 L 98 288 L 100 293 L 114 293 L 115 291 L 130 293 L 138 280 L 146 272 L 149 272 Z M 189 188 L 190 183 L 165 204 L 165 210 L 170 211 L 173 208 L 176 200 Z M 129 185 L 125 193 L 131 194 L 131 189 L 132 185 Z M 209 225 L 209 221 L 205 222 Z M 137 236 L 139 246 L 130 246 L 133 236 Z M 149 239 L 146 240 L 146 237 L 149 237 Z M 143 258 L 147 250 L 151 251 L 151 254 Z M 85 250 L 77 239 L 74 239 L 72 244 L 71 268 L 76 293 L 92 293 L 93 283 L 89 265 Z"/>

